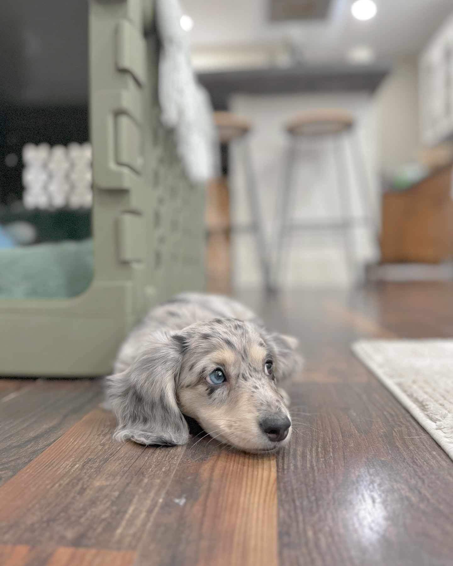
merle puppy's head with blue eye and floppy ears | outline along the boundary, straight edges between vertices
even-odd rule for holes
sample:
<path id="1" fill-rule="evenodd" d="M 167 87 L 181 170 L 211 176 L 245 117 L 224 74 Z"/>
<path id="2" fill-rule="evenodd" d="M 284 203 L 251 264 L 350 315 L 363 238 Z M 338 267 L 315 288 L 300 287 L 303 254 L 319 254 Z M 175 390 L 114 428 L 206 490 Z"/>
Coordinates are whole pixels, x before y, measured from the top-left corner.
<path id="1" fill-rule="evenodd" d="M 275 451 L 291 434 L 277 382 L 297 367 L 296 345 L 236 319 L 153 335 L 128 370 L 108 378 L 116 438 L 185 444 L 187 415 L 226 444 Z"/>

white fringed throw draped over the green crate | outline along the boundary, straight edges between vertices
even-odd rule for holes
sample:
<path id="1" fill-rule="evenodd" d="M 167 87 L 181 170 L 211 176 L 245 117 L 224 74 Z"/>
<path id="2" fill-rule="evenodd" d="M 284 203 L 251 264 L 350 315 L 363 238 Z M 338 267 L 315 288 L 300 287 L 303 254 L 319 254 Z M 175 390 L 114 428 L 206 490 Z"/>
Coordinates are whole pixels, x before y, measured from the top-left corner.
<path id="1" fill-rule="evenodd" d="M 178 0 L 157 0 L 161 121 L 176 132 L 187 176 L 193 182 L 206 182 L 215 174 L 217 134 L 210 97 L 191 66 L 187 32 L 180 24 L 182 15 Z"/>

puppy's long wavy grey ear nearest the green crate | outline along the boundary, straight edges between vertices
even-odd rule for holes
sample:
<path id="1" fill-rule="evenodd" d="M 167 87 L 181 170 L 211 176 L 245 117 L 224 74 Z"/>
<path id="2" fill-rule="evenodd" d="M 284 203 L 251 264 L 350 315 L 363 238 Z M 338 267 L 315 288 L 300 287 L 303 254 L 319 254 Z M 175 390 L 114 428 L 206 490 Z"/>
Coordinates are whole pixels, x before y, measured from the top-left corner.
<path id="1" fill-rule="evenodd" d="M 153 335 L 130 368 L 106 378 L 108 401 L 117 417 L 116 440 L 172 445 L 189 439 L 176 396 L 185 344 L 174 336 Z"/>

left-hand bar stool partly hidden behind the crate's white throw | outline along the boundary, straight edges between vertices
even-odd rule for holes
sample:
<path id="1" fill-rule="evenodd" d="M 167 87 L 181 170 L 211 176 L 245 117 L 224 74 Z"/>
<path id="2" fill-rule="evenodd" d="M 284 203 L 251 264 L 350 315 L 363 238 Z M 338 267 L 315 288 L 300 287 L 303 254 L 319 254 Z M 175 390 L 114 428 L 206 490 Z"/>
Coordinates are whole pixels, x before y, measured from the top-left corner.
<path id="1" fill-rule="evenodd" d="M 214 119 L 219 132 L 220 143 L 237 144 L 242 157 L 242 165 L 245 173 L 245 184 L 249 199 L 250 212 L 253 218 L 253 230 L 257 241 L 257 250 L 264 286 L 271 289 L 271 267 L 266 243 L 266 233 L 263 227 L 263 216 L 261 203 L 258 195 L 257 182 L 251 162 L 248 134 L 251 131 L 251 123 L 231 112 L 215 112 Z"/>

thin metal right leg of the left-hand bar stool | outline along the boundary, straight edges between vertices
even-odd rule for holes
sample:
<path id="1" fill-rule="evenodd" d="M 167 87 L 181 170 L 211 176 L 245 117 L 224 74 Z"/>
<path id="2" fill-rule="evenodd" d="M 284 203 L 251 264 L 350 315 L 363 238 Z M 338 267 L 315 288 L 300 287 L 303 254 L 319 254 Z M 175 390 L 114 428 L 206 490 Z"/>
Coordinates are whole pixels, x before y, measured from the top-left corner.
<path id="1" fill-rule="evenodd" d="M 266 233 L 263 226 L 263 215 L 258 196 L 257 183 L 251 164 L 250 148 L 247 138 L 241 140 L 243 164 L 246 175 L 247 195 L 249 196 L 250 212 L 253 215 L 255 235 L 257 238 L 258 254 L 261 264 L 261 273 L 266 291 L 272 290 L 270 260 L 268 246 L 266 243 Z"/>

